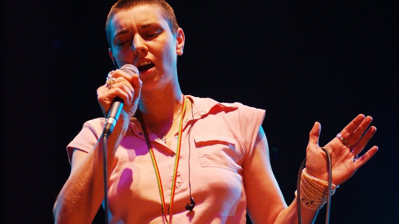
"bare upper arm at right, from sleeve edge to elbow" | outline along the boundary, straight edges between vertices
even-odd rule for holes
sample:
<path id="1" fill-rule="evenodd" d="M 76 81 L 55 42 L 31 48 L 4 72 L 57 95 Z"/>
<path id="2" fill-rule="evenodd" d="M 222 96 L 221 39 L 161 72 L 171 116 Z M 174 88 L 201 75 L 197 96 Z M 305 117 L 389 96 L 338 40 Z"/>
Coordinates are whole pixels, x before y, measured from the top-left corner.
<path id="1" fill-rule="evenodd" d="M 262 127 L 243 168 L 247 210 L 252 222 L 273 223 L 287 205 L 270 166 L 269 147 Z"/>

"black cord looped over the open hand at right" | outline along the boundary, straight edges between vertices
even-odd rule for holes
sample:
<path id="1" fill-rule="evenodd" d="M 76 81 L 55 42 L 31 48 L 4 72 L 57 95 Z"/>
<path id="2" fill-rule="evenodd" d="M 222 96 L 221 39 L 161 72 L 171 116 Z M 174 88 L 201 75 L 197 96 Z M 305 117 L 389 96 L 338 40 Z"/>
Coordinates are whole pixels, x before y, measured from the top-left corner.
<path id="1" fill-rule="evenodd" d="M 331 184 L 332 184 L 332 161 L 330 157 L 330 153 L 325 148 L 321 148 L 327 156 L 327 172 L 328 172 L 328 194 L 327 194 L 327 206 L 326 206 L 326 221 L 325 223 L 328 224 L 330 221 L 330 204 L 331 204 Z M 297 209 L 298 209 L 298 224 L 302 224 L 302 213 L 301 213 L 301 190 L 300 190 L 300 183 L 301 183 L 301 174 L 302 170 L 305 168 L 306 158 L 302 161 L 301 167 L 299 168 L 298 175 L 297 175 L 297 182 L 296 182 L 296 189 L 297 189 Z"/>

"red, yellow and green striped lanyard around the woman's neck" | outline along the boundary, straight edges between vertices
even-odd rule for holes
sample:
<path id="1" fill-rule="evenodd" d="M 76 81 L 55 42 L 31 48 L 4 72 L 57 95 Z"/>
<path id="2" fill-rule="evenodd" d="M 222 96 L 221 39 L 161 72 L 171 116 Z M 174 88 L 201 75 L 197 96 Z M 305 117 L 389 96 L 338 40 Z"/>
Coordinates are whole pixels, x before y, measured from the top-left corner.
<path id="1" fill-rule="evenodd" d="M 162 188 L 162 181 L 161 181 L 161 176 L 159 174 L 157 160 L 155 159 L 153 147 L 151 145 L 150 138 L 148 137 L 147 129 L 146 129 L 146 126 L 144 124 L 144 120 L 143 120 L 143 117 L 141 115 L 140 109 L 138 109 L 137 111 L 138 111 L 138 115 L 139 115 L 139 118 L 140 118 L 139 120 L 140 120 L 141 126 L 143 127 L 144 137 L 145 137 L 146 142 L 147 142 L 148 150 L 149 150 L 150 155 L 151 155 L 151 160 L 153 162 L 155 175 L 157 176 L 159 195 L 161 197 L 161 203 L 162 203 L 162 213 L 164 214 L 166 223 L 170 224 L 170 221 L 172 220 L 173 199 L 175 198 L 176 177 L 177 177 L 179 159 L 180 159 L 180 147 L 182 145 L 183 116 L 184 116 L 184 114 L 186 112 L 186 99 L 183 96 L 182 118 L 180 119 L 180 124 L 179 124 L 178 146 L 177 146 L 177 149 L 176 149 L 175 167 L 173 169 L 173 182 L 172 182 L 172 187 L 171 187 L 171 201 L 170 201 L 170 206 L 169 206 L 169 221 L 168 221 L 167 214 L 166 214 L 164 189 Z"/>

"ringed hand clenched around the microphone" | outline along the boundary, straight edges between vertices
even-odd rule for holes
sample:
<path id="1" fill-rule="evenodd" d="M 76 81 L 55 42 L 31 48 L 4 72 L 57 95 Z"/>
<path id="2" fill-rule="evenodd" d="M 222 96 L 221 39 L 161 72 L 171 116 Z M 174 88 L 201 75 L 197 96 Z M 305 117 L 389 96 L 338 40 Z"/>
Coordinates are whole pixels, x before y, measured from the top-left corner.
<path id="1" fill-rule="evenodd" d="M 107 117 L 112 102 L 116 97 L 119 97 L 123 100 L 123 111 L 125 112 L 125 115 L 130 118 L 136 112 L 138 107 L 142 81 L 140 80 L 139 75 L 134 74 L 130 76 L 120 69 L 111 73 L 112 78 L 114 78 L 115 81 L 112 85 L 104 84 L 97 89 L 98 103 L 100 104 L 104 116 Z M 124 112 L 122 112 L 122 114 Z"/>

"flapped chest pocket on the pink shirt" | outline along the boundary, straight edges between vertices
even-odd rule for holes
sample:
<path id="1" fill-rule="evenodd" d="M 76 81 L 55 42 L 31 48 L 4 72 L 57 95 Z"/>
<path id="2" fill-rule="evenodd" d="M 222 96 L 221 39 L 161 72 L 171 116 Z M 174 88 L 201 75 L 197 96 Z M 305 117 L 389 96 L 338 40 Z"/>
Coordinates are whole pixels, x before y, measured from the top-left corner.
<path id="1" fill-rule="evenodd" d="M 235 155 L 234 138 L 220 135 L 196 136 L 195 143 L 200 158 L 201 167 L 219 167 L 237 171 L 237 164 L 233 160 Z"/>

